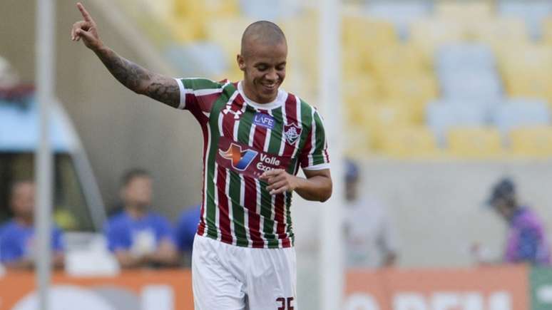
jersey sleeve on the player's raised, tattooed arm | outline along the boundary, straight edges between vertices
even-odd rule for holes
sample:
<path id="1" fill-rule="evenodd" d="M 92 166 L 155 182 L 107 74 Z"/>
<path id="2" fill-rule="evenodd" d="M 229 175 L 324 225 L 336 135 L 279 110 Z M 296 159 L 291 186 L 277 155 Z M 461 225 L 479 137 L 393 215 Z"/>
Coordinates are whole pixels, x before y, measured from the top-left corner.
<path id="1" fill-rule="evenodd" d="M 223 92 L 228 81 L 215 82 L 207 78 L 175 78 L 180 90 L 180 110 L 202 113 L 206 116 L 213 108 L 213 103 Z"/>

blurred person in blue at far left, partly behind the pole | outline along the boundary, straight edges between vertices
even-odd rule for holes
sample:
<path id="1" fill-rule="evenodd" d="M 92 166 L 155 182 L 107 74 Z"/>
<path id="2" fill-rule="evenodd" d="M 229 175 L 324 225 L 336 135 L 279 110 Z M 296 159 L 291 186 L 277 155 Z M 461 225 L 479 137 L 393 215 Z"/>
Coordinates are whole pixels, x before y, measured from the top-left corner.
<path id="1" fill-rule="evenodd" d="M 36 253 L 34 238 L 34 193 L 31 181 L 16 182 L 11 187 L 10 205 L 14 218 L 0 229 L 0 261 L 9 269 L 32 269 Z M 54 224 L 52 231 L 52 264 L 63 267 L 63 235 Z"/>

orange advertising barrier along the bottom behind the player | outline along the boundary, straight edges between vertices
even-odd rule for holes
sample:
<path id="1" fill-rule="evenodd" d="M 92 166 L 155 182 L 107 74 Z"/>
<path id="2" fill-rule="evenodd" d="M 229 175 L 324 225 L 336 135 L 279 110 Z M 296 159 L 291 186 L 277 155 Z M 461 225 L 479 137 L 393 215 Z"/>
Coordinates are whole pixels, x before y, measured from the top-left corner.
<path id="1" fill-rule="evenodd" d="M 552 309 L 552 269 L 351 269 L 343 310 Z M 0 310 L 36 307 L 34 274 L 0 278 Z M 188 270 L 131 271 L 116 277 L 53 275 L 52 309 L 193 310 Z M 309 301 L 301 300 L 307 304 Z M 69 306 L 69 308 L 67 308 Z"/>

